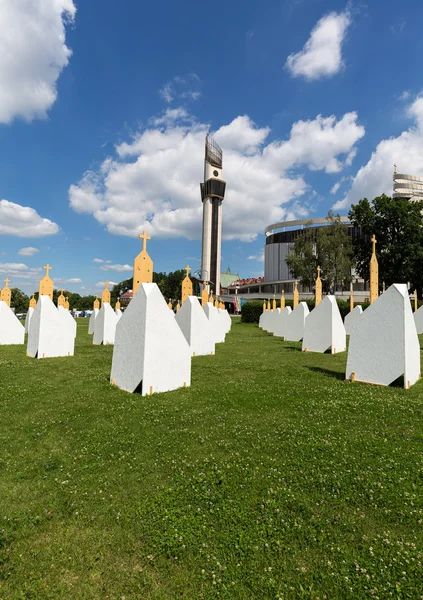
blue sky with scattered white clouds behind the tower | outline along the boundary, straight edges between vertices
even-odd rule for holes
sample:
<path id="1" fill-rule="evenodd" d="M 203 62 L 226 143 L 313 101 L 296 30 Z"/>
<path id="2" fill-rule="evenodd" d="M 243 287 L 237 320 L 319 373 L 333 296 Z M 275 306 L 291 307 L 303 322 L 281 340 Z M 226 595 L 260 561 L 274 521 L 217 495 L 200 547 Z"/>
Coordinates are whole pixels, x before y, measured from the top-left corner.
<path id="1" fill-rule="evenodd" d="M 0 276 L 81 294 L 200 267 L 204 136 L 224 152 L 222 270 L 263 230 L 423 175 L 418 0 L 19 0 L 0 14 Z M 94 261 L 94 259 L 96 259 Z"/>

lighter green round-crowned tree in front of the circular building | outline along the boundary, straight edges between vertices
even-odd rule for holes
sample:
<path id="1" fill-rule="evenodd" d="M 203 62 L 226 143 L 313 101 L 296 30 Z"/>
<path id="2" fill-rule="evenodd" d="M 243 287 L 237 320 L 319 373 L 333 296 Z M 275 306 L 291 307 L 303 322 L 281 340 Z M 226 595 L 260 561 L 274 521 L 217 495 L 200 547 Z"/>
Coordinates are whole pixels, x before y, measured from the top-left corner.
<path id="1" fill-rule="evenodd" d="M 300 232 L 286 263 L 294 277 L 309 288 L 314 286 L 320 266 L 323 289 L 333 293 L 351 281 L 352 247 L 339 215 L 329 211 L 326 222 L 324 227 L 309 226 Z"/>

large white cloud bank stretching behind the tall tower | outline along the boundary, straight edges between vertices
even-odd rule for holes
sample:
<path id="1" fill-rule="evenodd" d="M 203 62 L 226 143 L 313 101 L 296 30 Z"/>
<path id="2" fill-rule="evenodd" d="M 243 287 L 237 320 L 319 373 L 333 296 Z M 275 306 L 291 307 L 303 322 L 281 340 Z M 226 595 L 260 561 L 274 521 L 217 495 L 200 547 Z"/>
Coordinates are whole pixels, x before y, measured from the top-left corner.
<path id="1" fill-rule="evenodd" d="M 223 148 L 225 239 L 251 241 L 287 214 L 307 215 L 311 194 L 304 170 L 339 172 L 364 135 L 357 113 L 298 121 L 289 139 L 267 143 L 268 127 L 239 116 L 212 132 Z M 185 119 L 185 116 L 184 116 Z M 110 233 L 201 237 L 204 139 L 207 124 L 150 125 L 116 147 L 96 172 L 69 189 L 71 207 L 92 214 Z M 301 169 L 301 171 L 299 171 Z"/>

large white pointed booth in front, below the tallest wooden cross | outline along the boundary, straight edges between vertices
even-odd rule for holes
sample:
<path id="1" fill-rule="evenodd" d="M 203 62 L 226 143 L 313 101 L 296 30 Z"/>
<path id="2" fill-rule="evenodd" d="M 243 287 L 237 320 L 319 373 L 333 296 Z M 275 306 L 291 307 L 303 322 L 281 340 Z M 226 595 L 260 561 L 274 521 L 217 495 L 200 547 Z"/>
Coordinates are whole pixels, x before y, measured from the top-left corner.
<path id="1" fill-rule="evenodd" d="M 110 380 L 142 396 L 191 384 L 191 348 L 155 283 L 142 283 L 116 327 Z"/>

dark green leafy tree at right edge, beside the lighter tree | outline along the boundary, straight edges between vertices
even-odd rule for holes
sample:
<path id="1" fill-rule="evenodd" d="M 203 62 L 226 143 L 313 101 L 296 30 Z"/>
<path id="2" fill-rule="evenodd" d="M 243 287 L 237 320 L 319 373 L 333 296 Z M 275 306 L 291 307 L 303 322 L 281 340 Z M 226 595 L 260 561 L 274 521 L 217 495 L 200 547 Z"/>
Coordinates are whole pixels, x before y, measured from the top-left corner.
<path id="1" fill-rule="evenodd" d="M 423 289 L 423 202 L 404 202 L 385 194 L 371 202 L 363 198 L 353 205 L 349 217 L 360 227 L 353 252 L 358 274 L 368 281 L 372 252 L 371 236 L 376 236 L 379 286 L 410 282 L 421 298 Z"/>

